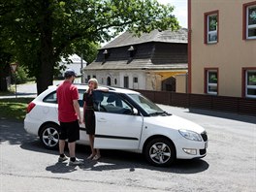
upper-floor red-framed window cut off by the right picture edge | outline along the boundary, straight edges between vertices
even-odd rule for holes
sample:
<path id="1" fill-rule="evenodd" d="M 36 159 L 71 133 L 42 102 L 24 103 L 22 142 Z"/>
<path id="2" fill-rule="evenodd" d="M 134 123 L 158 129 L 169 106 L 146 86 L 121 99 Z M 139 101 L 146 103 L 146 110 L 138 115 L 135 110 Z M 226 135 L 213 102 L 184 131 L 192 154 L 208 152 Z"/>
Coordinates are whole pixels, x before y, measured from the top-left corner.
<path id="1" fill-rule="evenodd" d="M 256 39 L 256 2 L 243 5 L 243 39 Z"/>

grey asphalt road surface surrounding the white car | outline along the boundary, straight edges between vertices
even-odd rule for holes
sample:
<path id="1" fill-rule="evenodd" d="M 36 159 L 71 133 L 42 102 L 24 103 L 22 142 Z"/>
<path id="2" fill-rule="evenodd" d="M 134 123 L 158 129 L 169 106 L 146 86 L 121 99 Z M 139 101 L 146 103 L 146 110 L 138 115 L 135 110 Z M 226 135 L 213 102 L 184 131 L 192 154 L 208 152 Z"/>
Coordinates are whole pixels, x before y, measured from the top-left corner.
<path id="1" fill-rule="evenodd" d="M 156 168 L 143 155 L 102 150 L 95 162 L 86 160 L 89 148 L 79 145 L 84 165 L 71 167 L 57 163 L 58 151 L 45 149 L 22 122 L 0 117 L 0 191 L 255 191 L 255 116 L 160 107 L 206 128 L 205 158 Z"/>

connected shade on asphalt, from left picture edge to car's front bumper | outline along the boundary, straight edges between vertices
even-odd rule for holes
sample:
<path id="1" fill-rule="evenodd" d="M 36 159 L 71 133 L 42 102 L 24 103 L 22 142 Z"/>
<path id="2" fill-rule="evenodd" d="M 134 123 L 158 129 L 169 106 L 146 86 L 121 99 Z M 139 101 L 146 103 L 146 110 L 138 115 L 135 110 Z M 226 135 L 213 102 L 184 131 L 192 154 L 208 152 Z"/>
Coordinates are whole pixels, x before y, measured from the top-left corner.
<path id="1" fill-rule="evenodd" d="M 23 150 L 35 151 L 58 156 L 58 150 L 49 150 L 41 144 L 40 140 L 27 134 L 23 129 L 23 123 L 0 119 L 0 140 L 1 144 L 18 144 Z M 68 150 L 66 149 L 68 152 Z M 208 170 L 208 162 L 203 159 L 199 160 L 176 160 L 171 167 L 154 167 L 147 164 L 144 155 L 126 152 L 121 150 L 102 149 L 102 158 L 96 162 L 87 160 L 90 154 L 90 148 L 87 145 L 77 145 L 77 157 L 84 160 L 80 169 L 84 171 L 101 172 L 107 170 L 129 169 L 135 172 L 137 169 L 154 170 L 159 172 L 175 174 L 197 174 Z M 56 163 L 49 165 L 46 170 L 51 173 L 70 173 L 78 170 L 78 166 L 72 167 L 65 163 Z"/>

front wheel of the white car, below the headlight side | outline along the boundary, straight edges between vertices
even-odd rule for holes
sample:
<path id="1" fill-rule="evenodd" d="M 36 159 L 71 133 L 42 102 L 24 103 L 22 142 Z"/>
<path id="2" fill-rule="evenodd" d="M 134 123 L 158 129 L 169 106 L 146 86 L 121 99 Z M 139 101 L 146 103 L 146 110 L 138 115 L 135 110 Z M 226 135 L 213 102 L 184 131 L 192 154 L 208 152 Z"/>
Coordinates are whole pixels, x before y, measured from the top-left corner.
<path id="1" fill-rule="evenodd" d="M 176 148 L 169 140 L 156 138 L 146 144 L 144 156 L 153 166 L 167 167 L 174 163 L 176 159 Z"/>

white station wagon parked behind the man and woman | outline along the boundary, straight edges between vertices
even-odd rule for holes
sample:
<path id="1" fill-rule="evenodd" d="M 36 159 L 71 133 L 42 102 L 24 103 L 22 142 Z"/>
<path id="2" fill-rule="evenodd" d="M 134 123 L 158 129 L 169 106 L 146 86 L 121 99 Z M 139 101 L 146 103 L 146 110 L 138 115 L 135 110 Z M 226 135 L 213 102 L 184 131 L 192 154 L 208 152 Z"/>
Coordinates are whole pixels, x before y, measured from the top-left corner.
<path id="1" fill-rule="evenodd" d="M 82 95 L 87 85 L 76 84 Z M 59 140 L 57 86 L 49 86 L 28 104 L 24 129 L 47 148 L 56 148 Z M 207 155 L 208 135 L 198 124 L 164 112 L 136 91 L 109 87 L 109 92 L 96 90 L 95 147 L 144 153 L 155 166 L 170 166 L 176 159 L 202 158 Z M 84 124 L 80 125 L 79 144 L 89 144 Z"/>

